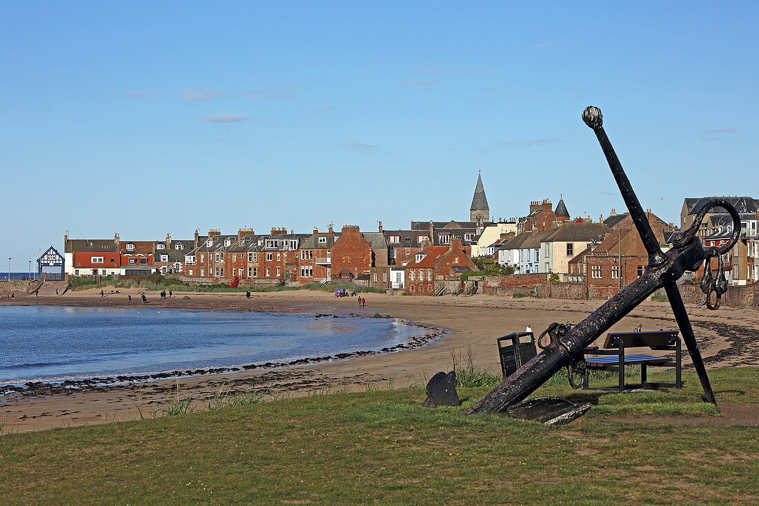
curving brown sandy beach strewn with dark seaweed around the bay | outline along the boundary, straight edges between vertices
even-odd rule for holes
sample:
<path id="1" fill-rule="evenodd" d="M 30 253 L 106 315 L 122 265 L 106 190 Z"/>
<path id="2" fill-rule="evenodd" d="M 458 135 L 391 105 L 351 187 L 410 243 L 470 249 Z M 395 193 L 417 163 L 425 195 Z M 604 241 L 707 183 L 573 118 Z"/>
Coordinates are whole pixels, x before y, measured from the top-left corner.
<path id="1" fill-rule="evenodd" d="M 64 296 L 18 296 L 2 299 L 4 305 L 87 305 L 140 308 L 137 289 L 120 289 L 101 297 L 99 289 L 68 292 Z M 128 295 L 133 302 L 127 302 Z M 190 299 L 183 299 L 189 296 Z M 158 293 L 147 293 L 155 308 L 202 308 L 233 311 L 305 312 L 332 315 L 364 315 L 379 312 L 411 322 L 449 330 L 437 340 L 414 349 L 341 361 L 297 367 L 254 369 L 213 375 L 143 381 L 134 384 L 94 385 L 79 390 L 50 394 L 27 393 L 0 397 L 0 419 L 6 431 L 25 432 L 55 427 L 87 425 L 149 416 L 160 410 L 173 393 L 198 402 L 207 400 L 222 387 L 234 391 L 256 389 L 266 397 L 306 395 L 329 389 L 363 390 L 367 387 L 424 385 L 435 372 L 452 368 L 452 355 L 462 360 L 471 346 L 474 362 L 499 372 L 496 338 L 524 330 L 528 324 L 539 333 L 553 321 L 578 322 L 603 301 L 559 299 L 506 299 L 491 296 L 387 296 L 365 295 L 367 305 L 356 299 L 335 299 L 331 293 L 306 290 L 254 293 L 175 293 L 160 301 Z M 759 313 L 755 309 L 720 308 L 708 311 L 689 305 L 688 313 L 704 354 L 707 367 L 759 365 Z M 676 328 L 669 305 L 646 302 L 612 330 Z M 687 354 L 684 361 L 688 364 Z"/>

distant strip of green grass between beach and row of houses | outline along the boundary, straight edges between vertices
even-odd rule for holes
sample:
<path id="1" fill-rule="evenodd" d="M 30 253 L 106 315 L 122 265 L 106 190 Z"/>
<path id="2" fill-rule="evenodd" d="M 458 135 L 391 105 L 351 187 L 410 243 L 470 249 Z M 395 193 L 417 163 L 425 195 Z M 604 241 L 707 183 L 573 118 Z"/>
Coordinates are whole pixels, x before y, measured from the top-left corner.
<path id="1" fill-rule="evenodd" d="M 163 289 L 174 292 L 202 292 L 202 293 L 224 293 L 224 292 L 285 292 L 288 290 L 316 290 L 319 292 L 334 292 L 337 289 L 346 289 L 348 292 L 357 293 L 385 293 L 384 289 L 376 286 L 361 286 L 354 283 L 335 282 L 335 283 L 306 283 L 298 286 L 238 286 L 229 288 L 225 283 L 216 283 L 213 285 L 190 285 L 178 280 L 175 277 L 163 277 L 160 274 L 150 274 L 142 278 L 121 278 L 118 276 L 109 276 L 101 278 L 99 281 L 83 277 L 70 277 L 68 279 L 68 289 L 74 292 L 91 288 L 105 288 L 113 286 L 115 288 L 140 288 L 151 291 L 160 291 Z"/>

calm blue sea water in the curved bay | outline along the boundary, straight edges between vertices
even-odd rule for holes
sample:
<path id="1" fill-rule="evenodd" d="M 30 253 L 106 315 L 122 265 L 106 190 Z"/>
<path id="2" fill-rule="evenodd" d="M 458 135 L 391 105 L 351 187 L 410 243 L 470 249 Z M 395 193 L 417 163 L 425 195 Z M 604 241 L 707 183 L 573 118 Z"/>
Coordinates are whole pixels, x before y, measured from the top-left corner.
<path id="1" fill-rule="evenodd" d="M 394 346 L 395 320 L 183 309 L 0 306 L 0 384 L 287 362 Z"/>

